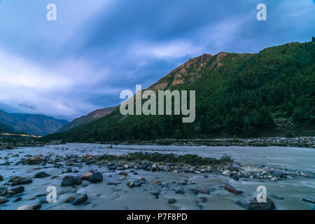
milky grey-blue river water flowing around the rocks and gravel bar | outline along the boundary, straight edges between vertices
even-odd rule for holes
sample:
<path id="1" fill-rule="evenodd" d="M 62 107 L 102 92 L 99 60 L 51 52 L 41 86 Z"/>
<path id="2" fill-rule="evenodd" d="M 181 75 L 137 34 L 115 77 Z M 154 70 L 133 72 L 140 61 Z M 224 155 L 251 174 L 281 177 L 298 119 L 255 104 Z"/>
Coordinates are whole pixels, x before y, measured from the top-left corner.
<path id="1" fill-rule="evenodd" d="M 232 155 L 232 158 L 244 164 L 265 165 L 277 169 L 296 169 L 301 172 L 315 174 L 315 149 L 314 148 L 289 148 L 289 147 L 243 147 L 243 146 L 227 146 L 227 147 L 210 147 L 210 146 L 113 146 L 106 148 L 108 145 L 100 144 L 66 144 L 56 146 L 43 146 L 39 148 L 16 148 L 13 150 L 0 151 L 0 164 L 10 162 L 10 165 L 0 166 L 0 175 L 3 181 L 0 186 L 8 183 L 12 176 L 22 176 L 33 179 L 33 183 L 25 184 L 25 191 L 20 195 L 9 198 L 9 201 L 0 204 L 0 210 L 18 209 L 18 207 L 26 204 L 38 203 L 41 197 L 48 192 L 48 186 L 56 186 L 57 202 L 42 204 L 41 209 L 243 209 L 236 204 L 237 201 L 244 198 L 244 195 L 253 194 L 258 186 L 267 188 L 267 197 L 270 195 L 280 195 L 283 200 L 276 200 L 272 197 L 276 209 L 315 209 L 314 204 L 302 201 L 303 198 L 315 201 L 315 179 L 297 176 L 279 181 L 270 181 L 269 179 L 240 179 L 235 181 L 228 176 L 220 174 L 205 173 L 174 173 L 174 172 L 148 172 L 142 169 L 136 173 L 128 172 L 127 179 L 122 183 L 113 186 L 108 185 L 109 182 L 118 180 L 118 171 L 111 171 L 106 167 L 98 165 L 85 165 L 82 167 L 55 168 L 52 165 L 16 165 L 21 158 L 26 155 L 123 155 L 125 153 L 134 153 L 139 151 L 158 152 L 158 153 L 174 153 L 178 155 L 196 154 L 201 157 L 220 158 L 223 153 Z M 17 155 L 18 157 L 12 157 Z M 100 183 L 89 183 L 87 186 L 67 186 L 61 187 L 62 178 L 66 175 L 66 168 L 76 171 L 73 176 L 81 176 L 93 169 L 102 172 L 104 180 Z M 38 170 L 40 169 L 40 170 Z M 51 176 L 57 176 L 55 179 L 50 177 L 44 179 L 35 179 L 34 175 L 38 172 L 46 172 Z M 155 198 L 151 195 L 151 190 L 155 186 L 150 184 L 146 187 L 129 188 L 126 186 L 127 180 L 137 180 L 144 177 L 148 181 L 161 181 L 162 183 L 174 183 L 183 179 L 194 181 L 195 186 L 210 190 L 210 194 L 202 194 L 207 198 L 207 202 L 196 203 L 195 200 L 200 195 L 189 193 L 176 194 L 174 190 L 161 190 L 160 197 Z M 243 191 L 243 196 L 233 195 L 223 189 L 224 184 L 229 183 L 237 190 Z M 6 186 L 10 188 L 10 186 Z M 65 204 L 64 200 L 69 196 L 76 194 L 87 194 L 88 203 L 74 206 Z M 35 197 L 35 196 L 38 197 Z M 22 197 L 18 202 L 14 202 L 16 197 Z M 175 198 L 176 203 L 169 204 L 168 199 Z"/>

